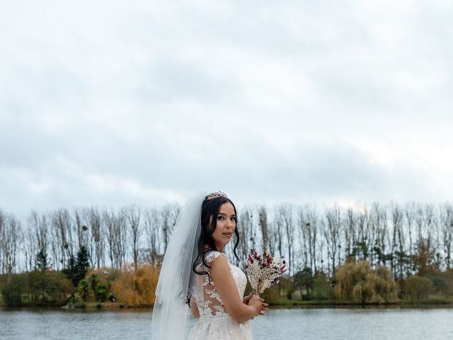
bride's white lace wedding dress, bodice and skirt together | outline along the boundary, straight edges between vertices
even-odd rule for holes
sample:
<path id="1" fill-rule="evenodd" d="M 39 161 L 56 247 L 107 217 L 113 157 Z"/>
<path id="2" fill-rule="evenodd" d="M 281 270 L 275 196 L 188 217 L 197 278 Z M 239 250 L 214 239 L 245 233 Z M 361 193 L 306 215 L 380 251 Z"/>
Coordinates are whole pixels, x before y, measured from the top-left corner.
<path id="1" fill-rule="evenodd" d="M 218 251 L 209 251 L 205 259 L 210 263 L 219 256 L 225 256 Z M 229 262 L 228 262 L 229 263 Z M 238 267 L 229 263 L 239 296 L 243 297 L 246 290 L 246 274 Z M 252 324 L 249 321 L 237 322 L 226 312 L 222 299 L 215 289 L 215 283 L 209 282 L 206 275 L 197 276 L 197 291 L 192 299 L 197 303 L 200 318 L 190 331 L 188 340 L 252 340 Z"/>

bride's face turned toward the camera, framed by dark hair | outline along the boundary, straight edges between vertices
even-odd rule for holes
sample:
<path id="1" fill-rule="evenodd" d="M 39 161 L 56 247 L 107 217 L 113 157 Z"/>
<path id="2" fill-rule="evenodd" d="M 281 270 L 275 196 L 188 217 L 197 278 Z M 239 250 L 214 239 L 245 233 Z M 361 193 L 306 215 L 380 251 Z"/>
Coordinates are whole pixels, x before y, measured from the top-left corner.
<path id="1" fill-rule="evenodd" d="M 234 215 L 233 205 L 229 202 L 222 204 L 216 218 L 217 225 L 212 234 L 212 239 L 214 239 L 217 250 L 223 251 L 225 244 L 233 237 L 234 229 L 236 229 L 236 215 Z"/>

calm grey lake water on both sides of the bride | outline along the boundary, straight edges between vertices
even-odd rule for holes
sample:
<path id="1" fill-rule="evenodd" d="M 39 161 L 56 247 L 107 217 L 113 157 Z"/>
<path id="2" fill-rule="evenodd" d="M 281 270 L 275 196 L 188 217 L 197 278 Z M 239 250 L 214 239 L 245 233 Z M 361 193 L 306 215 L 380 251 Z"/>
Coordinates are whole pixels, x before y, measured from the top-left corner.
<path id="1" fill-rule="evenodd" d="M 253 320 L 253 334 L 285 340 L 445 340 L 453 339 L 453 309 L 272 310 Z M 149 311 L 0 310 L 0 339 L 150 338 Z"/>

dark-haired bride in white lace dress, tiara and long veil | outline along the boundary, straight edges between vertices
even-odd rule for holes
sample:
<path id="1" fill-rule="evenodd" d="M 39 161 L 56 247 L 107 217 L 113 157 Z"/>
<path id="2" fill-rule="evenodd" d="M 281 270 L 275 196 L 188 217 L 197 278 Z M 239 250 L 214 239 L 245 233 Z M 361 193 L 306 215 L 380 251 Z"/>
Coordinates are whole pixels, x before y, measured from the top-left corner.
<path id="1" fill-rule="evenodd" d="M 242 298 L 246 275 L 229 263 L 224 246 L 236 235 L 236 208 L 222 192 L 197 195 L 178 215 L 162 263 L 151 339 L 185 338 L 189 308 L 198 318 L 189 340 L 251 340 L 250 319 L 268 310 L 255 295 Z"/>

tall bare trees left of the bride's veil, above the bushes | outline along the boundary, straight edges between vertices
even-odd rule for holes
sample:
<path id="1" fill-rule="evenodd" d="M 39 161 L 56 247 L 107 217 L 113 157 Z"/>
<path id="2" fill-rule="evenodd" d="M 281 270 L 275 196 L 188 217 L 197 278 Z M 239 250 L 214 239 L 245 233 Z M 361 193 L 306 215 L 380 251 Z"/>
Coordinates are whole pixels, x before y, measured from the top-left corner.
<path id="1" fill-rule="evenodd" d="M 32 210 L 25 224 L 0 210 L 0 273 L 33 271 L 44 265 L 69 268 L 81 249 L 91 268 L 121 269 L 132 263 L 159 264 L 179 206 L 83 207 Z"/>

